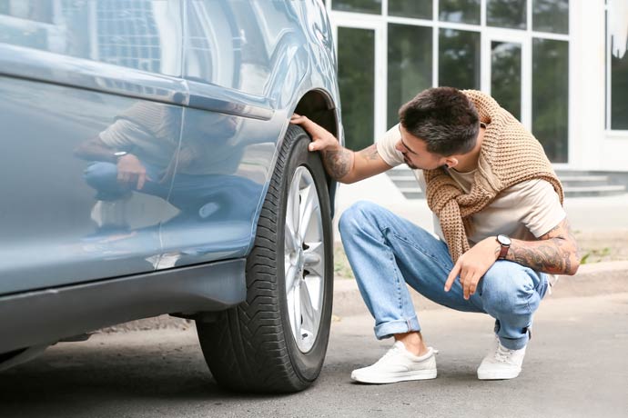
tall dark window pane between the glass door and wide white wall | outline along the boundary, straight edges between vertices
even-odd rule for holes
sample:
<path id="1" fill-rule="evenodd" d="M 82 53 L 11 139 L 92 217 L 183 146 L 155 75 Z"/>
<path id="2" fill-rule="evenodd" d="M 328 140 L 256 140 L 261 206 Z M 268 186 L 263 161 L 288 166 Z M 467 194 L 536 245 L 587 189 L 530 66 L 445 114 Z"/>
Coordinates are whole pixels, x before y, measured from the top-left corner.
<path id="1" fill-rule="evenodd" d="M 552 163 L 566 163 L 569 123 L 569 44 L 532 41 L 532 134 Z"/>

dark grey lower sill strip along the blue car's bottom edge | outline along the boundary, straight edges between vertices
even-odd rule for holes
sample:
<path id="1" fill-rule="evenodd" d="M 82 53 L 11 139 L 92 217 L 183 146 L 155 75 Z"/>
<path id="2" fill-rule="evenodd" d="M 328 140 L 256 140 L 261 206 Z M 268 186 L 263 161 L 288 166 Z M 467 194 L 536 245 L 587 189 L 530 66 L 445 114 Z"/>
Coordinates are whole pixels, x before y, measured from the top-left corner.
<path id="1" fill-rule="evenodd" d="M 164 312 L 227 309 L 246 298 L 244 264 L 228 260 L 0 296 L 0 353 Z"/>

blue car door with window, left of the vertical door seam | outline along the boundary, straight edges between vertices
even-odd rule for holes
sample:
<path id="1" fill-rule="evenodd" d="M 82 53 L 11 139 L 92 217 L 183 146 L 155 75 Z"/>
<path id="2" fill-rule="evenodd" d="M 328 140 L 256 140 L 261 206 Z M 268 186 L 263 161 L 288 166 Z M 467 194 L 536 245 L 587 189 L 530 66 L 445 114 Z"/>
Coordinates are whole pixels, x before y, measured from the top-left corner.
<path id="1" fill-rule="evenodd" d="M 181 11 L 0 4 L 0 294 L 155 270 L 176 212 Z"/>

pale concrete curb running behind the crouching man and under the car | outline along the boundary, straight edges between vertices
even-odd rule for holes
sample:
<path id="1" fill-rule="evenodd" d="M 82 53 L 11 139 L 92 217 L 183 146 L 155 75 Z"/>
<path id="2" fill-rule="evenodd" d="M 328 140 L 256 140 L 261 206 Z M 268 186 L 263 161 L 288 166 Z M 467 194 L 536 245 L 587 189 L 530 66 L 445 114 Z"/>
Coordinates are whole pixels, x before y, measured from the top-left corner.
<path id="1" fill-rule="evenodd" d="M 554 285 L 552 294 L 547 294 L 545 300 L 567 297 L 586 297 L 601 294 L 617 294 L 628 292 L 628 261 L 583 264 L 578 274 L 573 276 L 561 275 Z M 410 289 L 412 302 L 417 312 L 430 309 L 447 309 L 435 304 Z M 334 281 L 333 314 L 335 320 L 344 316 L 369 314 L 362 301 L 358 284 L 354 279 L 337 278 Z M 120 323 L 103 328 L 97 333 L 120 333 L 129 331 L 151 331 L 159 329 L 187 330 L 194 327 L 190 320 L 175 318 L 169 315 L 160 315 L 154 318 L 140 319 L 129 323 Z"/>

